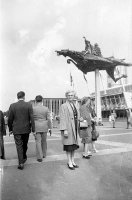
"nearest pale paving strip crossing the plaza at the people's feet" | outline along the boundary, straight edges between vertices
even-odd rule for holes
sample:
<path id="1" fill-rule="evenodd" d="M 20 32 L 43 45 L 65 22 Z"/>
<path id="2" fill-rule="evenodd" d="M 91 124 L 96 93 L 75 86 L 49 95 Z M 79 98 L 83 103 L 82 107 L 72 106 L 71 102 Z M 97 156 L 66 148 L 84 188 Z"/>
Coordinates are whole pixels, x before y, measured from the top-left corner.
<path id="1" fill-rule="evenodd" d="M 113 148 L 113 149 L 103 149 L 100 150 L 98 153 L 94 153 L 92 157 L 96 156 L 105 156 L 105 155 L 111 155 L 111 154 L 119 154 L 119 153 L 127 153 L 132 151 L 132 148 Z M 81 153 L 76 153 L 75 158 L 82 158 Z M 92 158 L 91 158 L 92 159 Z M 57 155 L 51 155 L 47 156 L 42 163 L 38 163 L 36 160 L 36 157 L 31 157 L 28 158 L 26 165 L 29 164 L 43 164 L 47 162 L 53 162 L 53 161 L 61 161 L 61 160 L 67 160 L 66 154 L 57 154 Z M 3 167 L 9 167 L 9 166 L 16 166 L 18 165 L 18 160 L 17 159 L 12 159 L 12 160 L 0 160 L 0 169 Z"/>

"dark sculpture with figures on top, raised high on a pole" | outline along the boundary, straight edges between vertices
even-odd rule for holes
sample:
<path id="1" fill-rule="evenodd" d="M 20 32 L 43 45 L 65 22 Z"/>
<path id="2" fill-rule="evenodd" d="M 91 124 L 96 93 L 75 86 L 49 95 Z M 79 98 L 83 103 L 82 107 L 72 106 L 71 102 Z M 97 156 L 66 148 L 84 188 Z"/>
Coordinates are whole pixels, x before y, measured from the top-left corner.
<path id="1" fill-rule="evenodd" d="M 67 59 L 67 63 L 73 62 L 75 66 L 81 70 L 84 74 L 87 72 L 99 70 L 106 70 L 108 75 L 117 82 L 121 78 L 126 78 L 126 75 L 121 75 L 118 78 L 114 77 L 114 70 L 116 66 L 132 66 L 131 63 L 124 62 L 125 59 L 116 59 L 113 56 L 104 58 L 101 54 L 101 50 L 97 43 L 94 46 L 90 44 L 90 41 L 86 40 L 85 37 L 85 51 L 71 51 L 61 50 L 56 51 L 57 55 L 63 55 L 64 57 L 70 57 Z"/>

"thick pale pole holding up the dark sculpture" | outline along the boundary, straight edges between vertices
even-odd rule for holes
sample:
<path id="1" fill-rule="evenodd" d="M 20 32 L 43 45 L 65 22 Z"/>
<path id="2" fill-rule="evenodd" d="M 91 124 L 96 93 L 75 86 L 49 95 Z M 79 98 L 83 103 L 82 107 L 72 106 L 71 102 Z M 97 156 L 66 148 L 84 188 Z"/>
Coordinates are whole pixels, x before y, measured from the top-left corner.
<path id="1" fill-rule="evenodd" d="M 95 111 L 97 114 L 97 120 L 99 120 L 99 118 L 102 120 L 99 69 L 95 70 Z"/>

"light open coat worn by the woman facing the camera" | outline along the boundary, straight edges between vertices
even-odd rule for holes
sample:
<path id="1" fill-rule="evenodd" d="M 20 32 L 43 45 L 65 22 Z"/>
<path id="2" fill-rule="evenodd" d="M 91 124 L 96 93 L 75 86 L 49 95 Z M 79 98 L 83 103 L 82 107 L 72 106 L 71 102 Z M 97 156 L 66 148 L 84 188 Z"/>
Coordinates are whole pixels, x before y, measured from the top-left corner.
<path id="1" fill-rule="evenodd" d="M 77 127 L 77 137 L 75 131 L 75 122 L 74 122 L 74 114 L 73 110 L 68 102 L 64 103 L 60 107 L 60 130 L 62 136 L 62 144 L 63 145 L 78 145 L 78 131 L 79 131 L 79 110 L 77 109 L 78 117 L 78 127 Z M 68 137 L 64 137 L 64 130 L 67 130 Z"/>

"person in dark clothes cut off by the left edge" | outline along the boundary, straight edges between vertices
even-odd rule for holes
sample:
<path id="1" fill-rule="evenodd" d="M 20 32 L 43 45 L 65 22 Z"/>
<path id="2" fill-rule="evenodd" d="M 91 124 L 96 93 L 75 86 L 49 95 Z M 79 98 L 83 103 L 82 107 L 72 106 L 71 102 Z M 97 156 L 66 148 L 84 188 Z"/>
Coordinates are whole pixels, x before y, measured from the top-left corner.
<path id="1" fill-rule="evenodd" d="M 4 139 L 3 139 L 4 135 L 6 135 L 5 121 L 3 112 L 0 110 L 0 158 L 1 159 L 5 159 Z"/>

